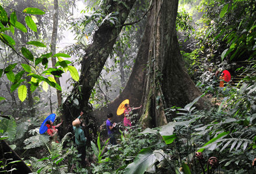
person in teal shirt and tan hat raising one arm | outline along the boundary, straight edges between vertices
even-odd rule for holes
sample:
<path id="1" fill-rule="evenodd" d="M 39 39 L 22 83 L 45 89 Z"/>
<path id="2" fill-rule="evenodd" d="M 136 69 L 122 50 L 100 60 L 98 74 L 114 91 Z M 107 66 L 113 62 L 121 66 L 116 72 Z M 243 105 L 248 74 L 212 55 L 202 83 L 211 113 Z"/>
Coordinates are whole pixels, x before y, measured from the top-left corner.
<path id="1" fill-rule="evenodd" d="M 73 122 L 74 129 L 74 137 L 77 145 L 77 150 L 79 154 L 81 154 L 81 165 L 83 167 L 86 166 L 86 137 L 84 136 L 84 131 L 81 129 L 81 116 L 83 115 L 83 111 L 81 111 L 80 116 L 76 118 Z"/>

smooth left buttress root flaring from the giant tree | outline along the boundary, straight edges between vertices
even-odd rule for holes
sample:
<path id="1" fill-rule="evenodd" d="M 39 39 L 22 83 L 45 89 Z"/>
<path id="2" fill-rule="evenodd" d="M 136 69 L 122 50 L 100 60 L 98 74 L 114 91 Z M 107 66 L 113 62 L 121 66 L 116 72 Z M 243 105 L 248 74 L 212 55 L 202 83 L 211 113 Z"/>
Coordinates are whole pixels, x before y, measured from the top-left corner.
<path id="1" fill-rule="evenodd" d="M 149 13 L 148 16 L 151 16 L 151 14 Z M 99 124 L 102 124 L 106 120 L 107 113 L 112 113 L 113 115 L 115 115 L 115 117 L 113 117 L 113 121 L 122 121 L 123 115 L 117 116 L 116 110 L 118 109 L 119 104 L 125 99 L 129 99 L 130 104 L 133 107 L 140 106 L 141 99 L 143 97 L 145 74 L 147 73 L 145 67 L 148 61 L 148 49 L 145 48 L 149 48 L 150 46 L 151 27 L 152 20 L 150 19 L 150 17 L 148 17 L 143 38 L 140 42 L 140 48 L 138 49 L 138 53 L 133 66 L 133 70 L 131 71 L 131 75 L 126 83 L 125 88 L 123 89 L 122 93 L 120 93 L 120 95 L 115 100 L 113 100 L 113 102 L 94 112 Z"/>

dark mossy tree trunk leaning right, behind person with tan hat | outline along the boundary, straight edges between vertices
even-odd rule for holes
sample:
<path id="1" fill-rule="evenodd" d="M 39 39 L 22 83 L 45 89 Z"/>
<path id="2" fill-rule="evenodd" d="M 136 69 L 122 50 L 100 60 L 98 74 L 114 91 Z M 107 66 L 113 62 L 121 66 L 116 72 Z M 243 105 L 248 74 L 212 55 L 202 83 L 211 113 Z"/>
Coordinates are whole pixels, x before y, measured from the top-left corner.
<path id="1" fill-rule="evenodd" d="M 85 117 L 87 117 L 86 111 L 88 110 L 88 100 L 91 95 L 91 91 L 94 88 L 95 82 L 97 81 L 102 68 L 104 67 L 106 59 L 108 59 L 109 54 L 112 52 L 113 45 L 116 42 L 120 31 L 122 30 L 122 24 L 125 23 L 127 16 L 136 0 L 126 0 L 123 3 L 117 3 L 114 1 L 108 1 L 109 11 L 119 12 L 115 15 L 118 18 L 119 24 L 115 26 L 109 21 L 104 22 L 94 34 L 93 44 L 88 46 L 86 55 L 84 55 L 81 61 L 81 74 L 79 83 L 74 85 L 72 93 L 67 97 L 65 103 L 62 107 L 62 115 L 64 122 L 63 125 L 66 129 L 61 131 L 61 133 L 67 133 L 67 131 L 72 131 L 70 123 L 75 119 L 81 110 L 84 111 Z M 74 100 L 79 101 L 79 105 L 74 104 Z M 88 125 L 87 125 L 88 126 Z M 88 133 L 90 131 L 86 131 Z M 87 142 L 90 142 L 87 141 Z"/>

